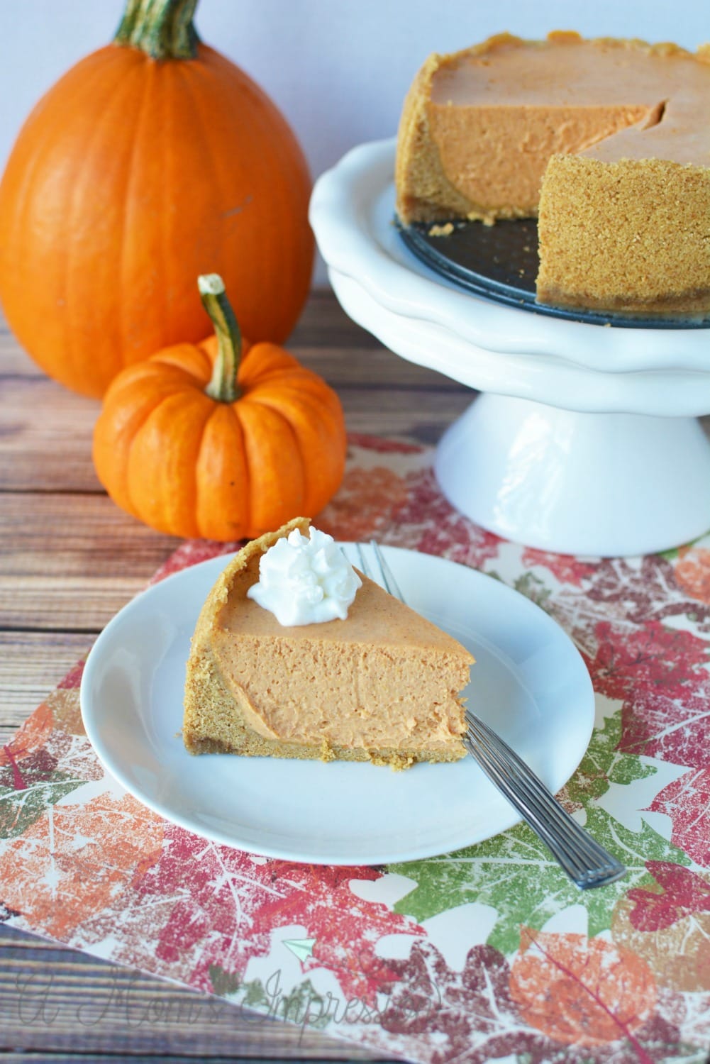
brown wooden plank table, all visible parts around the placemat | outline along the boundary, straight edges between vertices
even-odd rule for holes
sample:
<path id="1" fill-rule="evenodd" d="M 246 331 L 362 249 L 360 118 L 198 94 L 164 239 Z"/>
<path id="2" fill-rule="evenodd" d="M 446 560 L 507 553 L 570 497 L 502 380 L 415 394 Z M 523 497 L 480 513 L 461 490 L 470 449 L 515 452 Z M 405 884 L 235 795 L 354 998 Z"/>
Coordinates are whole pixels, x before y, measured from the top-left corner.
<path id="1" fill-rule="evenodd" d="M 288 348 L 352 432 L 434 443 L 468 388 L 411 365 L 315 293 Z M 179 541 L 118 510 L 92 466 L 99 403 L 48 380 L 0 323 L 0 746 Z M 374 1060 L 219 999 L 0 926 L 0 1060 Z M 382 1058 L 379 1058 L 382 1059 Z"/>

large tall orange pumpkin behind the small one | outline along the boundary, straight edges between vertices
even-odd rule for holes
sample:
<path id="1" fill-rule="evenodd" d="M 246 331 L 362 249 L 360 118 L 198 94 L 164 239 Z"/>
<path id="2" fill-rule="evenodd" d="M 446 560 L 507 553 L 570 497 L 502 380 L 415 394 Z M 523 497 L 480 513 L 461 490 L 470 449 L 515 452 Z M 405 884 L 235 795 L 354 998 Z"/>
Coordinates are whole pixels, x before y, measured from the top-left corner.
<path id="1" fill-rule="evenodd" d="M 129 0 L 112 45 L 37 104 L 0 184 L 0 300 L 42 368 L 102 395 L 123 366 L 204 332 L 218 270 L 252 339 L 308 295 L 310 178 L 285 119 L 197 41 L 197 0 Z"/>

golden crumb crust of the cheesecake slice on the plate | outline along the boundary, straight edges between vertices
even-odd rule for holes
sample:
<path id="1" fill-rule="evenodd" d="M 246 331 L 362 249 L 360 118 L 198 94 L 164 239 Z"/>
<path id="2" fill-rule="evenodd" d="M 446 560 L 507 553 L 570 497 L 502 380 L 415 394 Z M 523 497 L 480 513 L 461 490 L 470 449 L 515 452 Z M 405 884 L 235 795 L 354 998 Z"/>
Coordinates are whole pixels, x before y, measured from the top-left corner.
<path id="1" fill-rule="evenodd" d="M 212 587 L 195 628 L 187 662 L 182 730 L 185 748 L 192 754 L 232 753 L 243 757 L 296 760 L 369 761 L 377 765 L 390 765 L 395 769 L 408 768 L 420 761 L 453 762 L 463 758 L 466 751 L 460 737 L 452 739 L 445 748 L 436 746 L 431 749 L 408 749 L 406 746 L 345 747 L 331 743 L 326 736 L 318 737 L 313 743 L 290 743 L 259 734 L 245 719 L 252 706 L 245 693 L 226 682 L 214 652 L 214 635 L 219 628 L 218 616 L 229 600 L 235 577 L 250 565 L 253 566 L 261 554 L 294 529 L 307 534 L 309 525 L 308 518 L 298 517 L 277 532 L 267 533 L 247 544 L 227 565 Z M 381 588 L 379 591 L 382 595 L 387 594 Z M 393 601 L 397 602 L 398 608 L 409 610 L 398 600 Z M 416 616 L 418 617 L 418 614 Z M 287 629 L 284 631 L 287 632 Z M 455 639 L 451 639 L 451 644 L 461 651 L 462 668 L 464 661 L 466 668 L 473 664 L 473 655 Z M 464 680 L 459 689 L 465 686 L 465 682 Z M 461 710 L 460 733 L 463 734 L 465 730 L 463 700 L 459 697 L 457 701 Z"/>

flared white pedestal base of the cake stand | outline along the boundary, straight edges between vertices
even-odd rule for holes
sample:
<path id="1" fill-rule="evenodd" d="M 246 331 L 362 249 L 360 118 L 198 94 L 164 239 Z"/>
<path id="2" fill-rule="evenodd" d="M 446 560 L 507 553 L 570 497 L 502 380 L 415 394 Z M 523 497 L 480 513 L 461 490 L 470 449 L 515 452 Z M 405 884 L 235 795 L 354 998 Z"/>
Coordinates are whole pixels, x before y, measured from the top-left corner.
<path id="1" fill-rule="evenodd" d="M 545 550 L 650 553 L 710 528 L 710 448 L 694 418 L 580 414 L 486 393 L 444 434 L 435 471 L 457 510 Z"/>

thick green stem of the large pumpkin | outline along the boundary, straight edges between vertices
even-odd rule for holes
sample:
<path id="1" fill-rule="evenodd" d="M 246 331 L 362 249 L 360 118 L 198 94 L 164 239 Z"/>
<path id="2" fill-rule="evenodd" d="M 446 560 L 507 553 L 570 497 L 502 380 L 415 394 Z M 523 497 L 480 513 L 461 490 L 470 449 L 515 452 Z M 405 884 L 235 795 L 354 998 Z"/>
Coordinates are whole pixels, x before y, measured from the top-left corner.
<path id="1" fill-rule="evenodd" d="M 197 0 L 127 0 L 114 44 L 139 48 L 153 60 L 194 60 Z"/>

